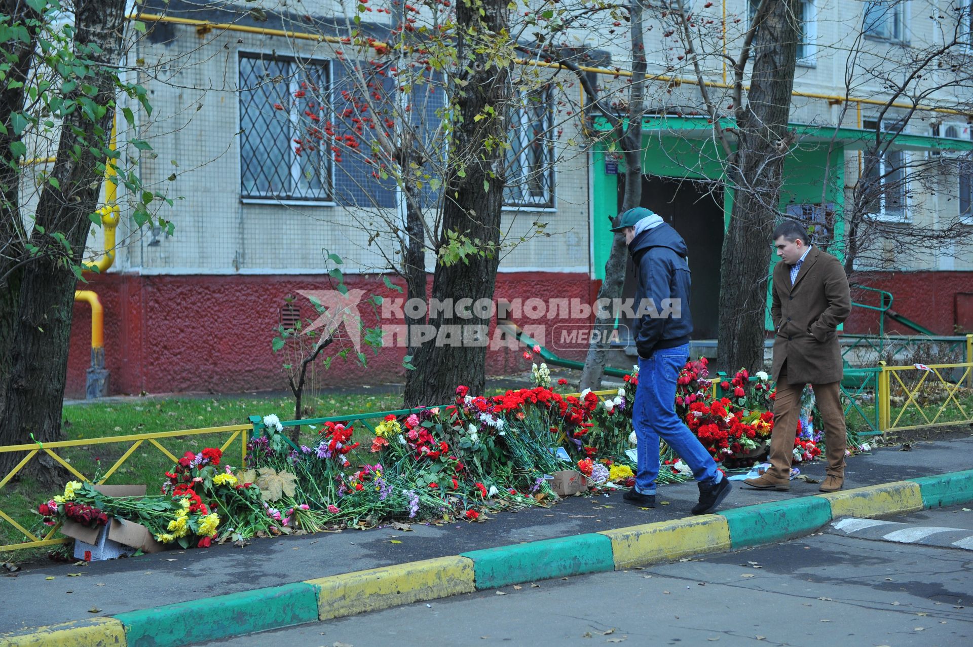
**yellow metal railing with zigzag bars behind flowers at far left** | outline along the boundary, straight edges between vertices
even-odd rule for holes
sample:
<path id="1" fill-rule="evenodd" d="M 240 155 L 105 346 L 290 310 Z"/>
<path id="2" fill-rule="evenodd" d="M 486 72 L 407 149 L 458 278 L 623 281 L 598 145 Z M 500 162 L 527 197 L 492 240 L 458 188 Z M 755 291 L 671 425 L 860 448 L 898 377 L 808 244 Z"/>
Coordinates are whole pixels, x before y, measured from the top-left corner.
<path id="1" fill-rule="evenodd" d="M 148 434 L 128 434 L 125 436 L 106 436 L 104 438 L 82 438 L 74 441 L 55 441 L 54 443 L 30 443 L 27 445 L 9 445 L 6 447 L 0 447 L 0 453 L 8 453 L 12 451 L 26 451 L 25 455 L 20 462 L 10 471 L 9 474 L 4 476 L 3 480 L 0 480 L 0 491 L 3 487 L 10 483 L 11 479 L 17 476 L 18 472 L 23 469 L 24 465 L 29 463 L 35 456 L 37 456 L 42 451 L 50 455 L 54 460 L 56 460 L 60 465 L 62 465 L 68 472 L 73 474 L 80 481 L 90 481 L 88 477 L 79 472 L 71 463 L 66 461 L 62 456 L 60 456 L 55 449 L 71 448 L 85 446 L 89 447 L 92 445 L 108 445 L 111 443 L 131 443 L 125 453 L 119 457 L 118 460 L 109 468 L 107 472 L 98 478 L 97 483 L 105 483 L 113 474 L 115 474 L 118 469 L 126 462 L 129 456 L 142 446 L 143 443 L 148 442 L 150 445 L 155 446 L 157 449 L 162 451 L 162 453 L 168 457 L 172 462 L 177 462 L 179 459 L 168 449 L 165 449 L 160 443 L 160 439 L 165 438 L 177 438 L 184 436 L 202 436 L 205 434 L 225 434 L 229 433 L 230 438 L 220 447 L 224 452 L 233 445 L 234 441 L 240 439 L 240 465 L 246 459 L 246 443 L 247 443 L 247 433 L 252 427 L 249 424 L 232 424 L 224 427 L 202 427 L 199 429 L 181 429 L 177 431 L 159 431 Z M 59 525 L 54 525 L 51 530 L 43 537 L 38 537 L 37 535 L 30 532 L 27 528 L 20 525 L 16 520 L 14 520 L 5 511 L 0 510 L 0 519 L 7 521 L 18 529 L 23 536 L 28 539 L 26 542 L 21 542 L 18 544 L 9 544 L 7 546 L 0 546 L 0 551 L 14 551 L 23 548 L 39 548 L 42 546 L 52 546 L 54 544 L 63 544 L 68 539 L 65 538 L 54 538 L 54 533 L 57 532 Z"/>

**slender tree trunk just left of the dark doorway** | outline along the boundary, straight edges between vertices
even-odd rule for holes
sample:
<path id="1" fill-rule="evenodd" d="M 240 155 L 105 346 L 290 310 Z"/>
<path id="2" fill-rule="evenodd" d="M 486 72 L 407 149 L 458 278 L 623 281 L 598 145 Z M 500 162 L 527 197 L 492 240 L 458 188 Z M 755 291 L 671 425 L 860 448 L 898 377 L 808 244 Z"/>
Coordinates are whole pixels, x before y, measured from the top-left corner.
<path id="1" fill-rule="evenodd" d="M 643 14 L 644 6 L 641 0 L 634 0 L 629 7 L 632 46 L 630 123 L 628 130 L 619 141 L 625 154 L 625 196 L 622 198 L 622 211 L 642 205 L 642 115 L 645 112 L 645 73 L 648 69 L 645 60 Z M 595 223 L 595 227 L 598 226 L 598 223 Z M 628 253 L 625 236 L 615 234 L 608 261 L 605 263 L 605 276 L 598 288 L 599 301 L 621 299 L 622 289 L 625 286 Z M 599 317 L 595 313 L 595 335 L 592 336 L 592 342 L 588 346 L 585 368 L 581 372 L 581 388 L 597 389 L 601 386 L 601 376 L 604 373 L 608 352 L 608 336 L 614 325 L 614 312 L 609 312 L 607 317 Z"/>

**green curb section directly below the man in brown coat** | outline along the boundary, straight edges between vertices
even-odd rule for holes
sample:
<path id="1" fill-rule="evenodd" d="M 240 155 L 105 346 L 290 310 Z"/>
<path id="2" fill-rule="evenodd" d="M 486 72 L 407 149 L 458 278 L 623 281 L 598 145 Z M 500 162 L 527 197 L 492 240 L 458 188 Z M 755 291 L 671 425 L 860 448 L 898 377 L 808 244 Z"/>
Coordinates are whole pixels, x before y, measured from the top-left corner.
<path id="1" fill-rule="evenodd" d="M 716 513 L 730 524 L 730 549 L 793 539 L 831 521 L 831 504 L 818 496 L 771 501 Z"/>

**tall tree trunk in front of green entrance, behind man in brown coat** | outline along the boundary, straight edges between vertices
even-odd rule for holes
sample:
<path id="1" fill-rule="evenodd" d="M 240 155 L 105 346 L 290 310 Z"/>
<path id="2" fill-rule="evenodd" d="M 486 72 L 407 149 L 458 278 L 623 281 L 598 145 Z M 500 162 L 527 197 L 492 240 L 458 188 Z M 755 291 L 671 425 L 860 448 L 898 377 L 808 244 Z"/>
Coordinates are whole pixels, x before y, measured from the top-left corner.
<path id="1" fill-rule="evenodd" d="M 768 251 L 779 213 L 799 33 L 797 0 L 771 0 L 754 40 L 747 104 L 738 118 L 739 144 L 730 165 L 734 202 L 720 265 L 718 366 L 764 368 Z"/>

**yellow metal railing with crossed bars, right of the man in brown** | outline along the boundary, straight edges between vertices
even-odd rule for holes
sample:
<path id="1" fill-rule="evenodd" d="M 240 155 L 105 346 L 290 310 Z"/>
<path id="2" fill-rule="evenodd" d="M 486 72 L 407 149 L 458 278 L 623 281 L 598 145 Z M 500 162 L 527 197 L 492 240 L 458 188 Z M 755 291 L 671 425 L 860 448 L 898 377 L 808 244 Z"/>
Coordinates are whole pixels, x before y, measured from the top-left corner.
<path id="1" fill-rule="evenodd" d="M 967 338 L 967 349 L 970 341 Z M 967 358 L 968 359 L 968 358 Z M 948 424 L 966 424 L 973 422 L 973 401 L 965 406 L 957 395 L 971 394 L 970 377 L 973 376 L 973 362 L 966 361 L 958 364 L 930 364 L 924 366 L 887 366 L 880 362 L 882 373 L 879 376 L 879 427 L 883 431 L 900 431 L 904 429 L 918 429 L 919 427 L 933 427 Z M 944 372 L 960 371 L 961 375 L 954 379 L 944 376 Z M 907 383 L 908 382 L 908 383 Z M 902 405 L 895 417 L 892 417 L 892 391 L 902 393 Z M 938 392 L 938 394 L 937 394 Z M 932 407 L 920 404 L 929 394 L 942 396 L 942 403 L 934 403 Z M 935 413 L 927 410 L 935 409 Z M 919 413 L 919 424 L 900 424 L 906 413 Z M 944 415 L 944 413 L 946 415 Z M 949 413 L 959 413 L 958 419 Z M 951 417 L 951 419 L 943 419 Z"/>

